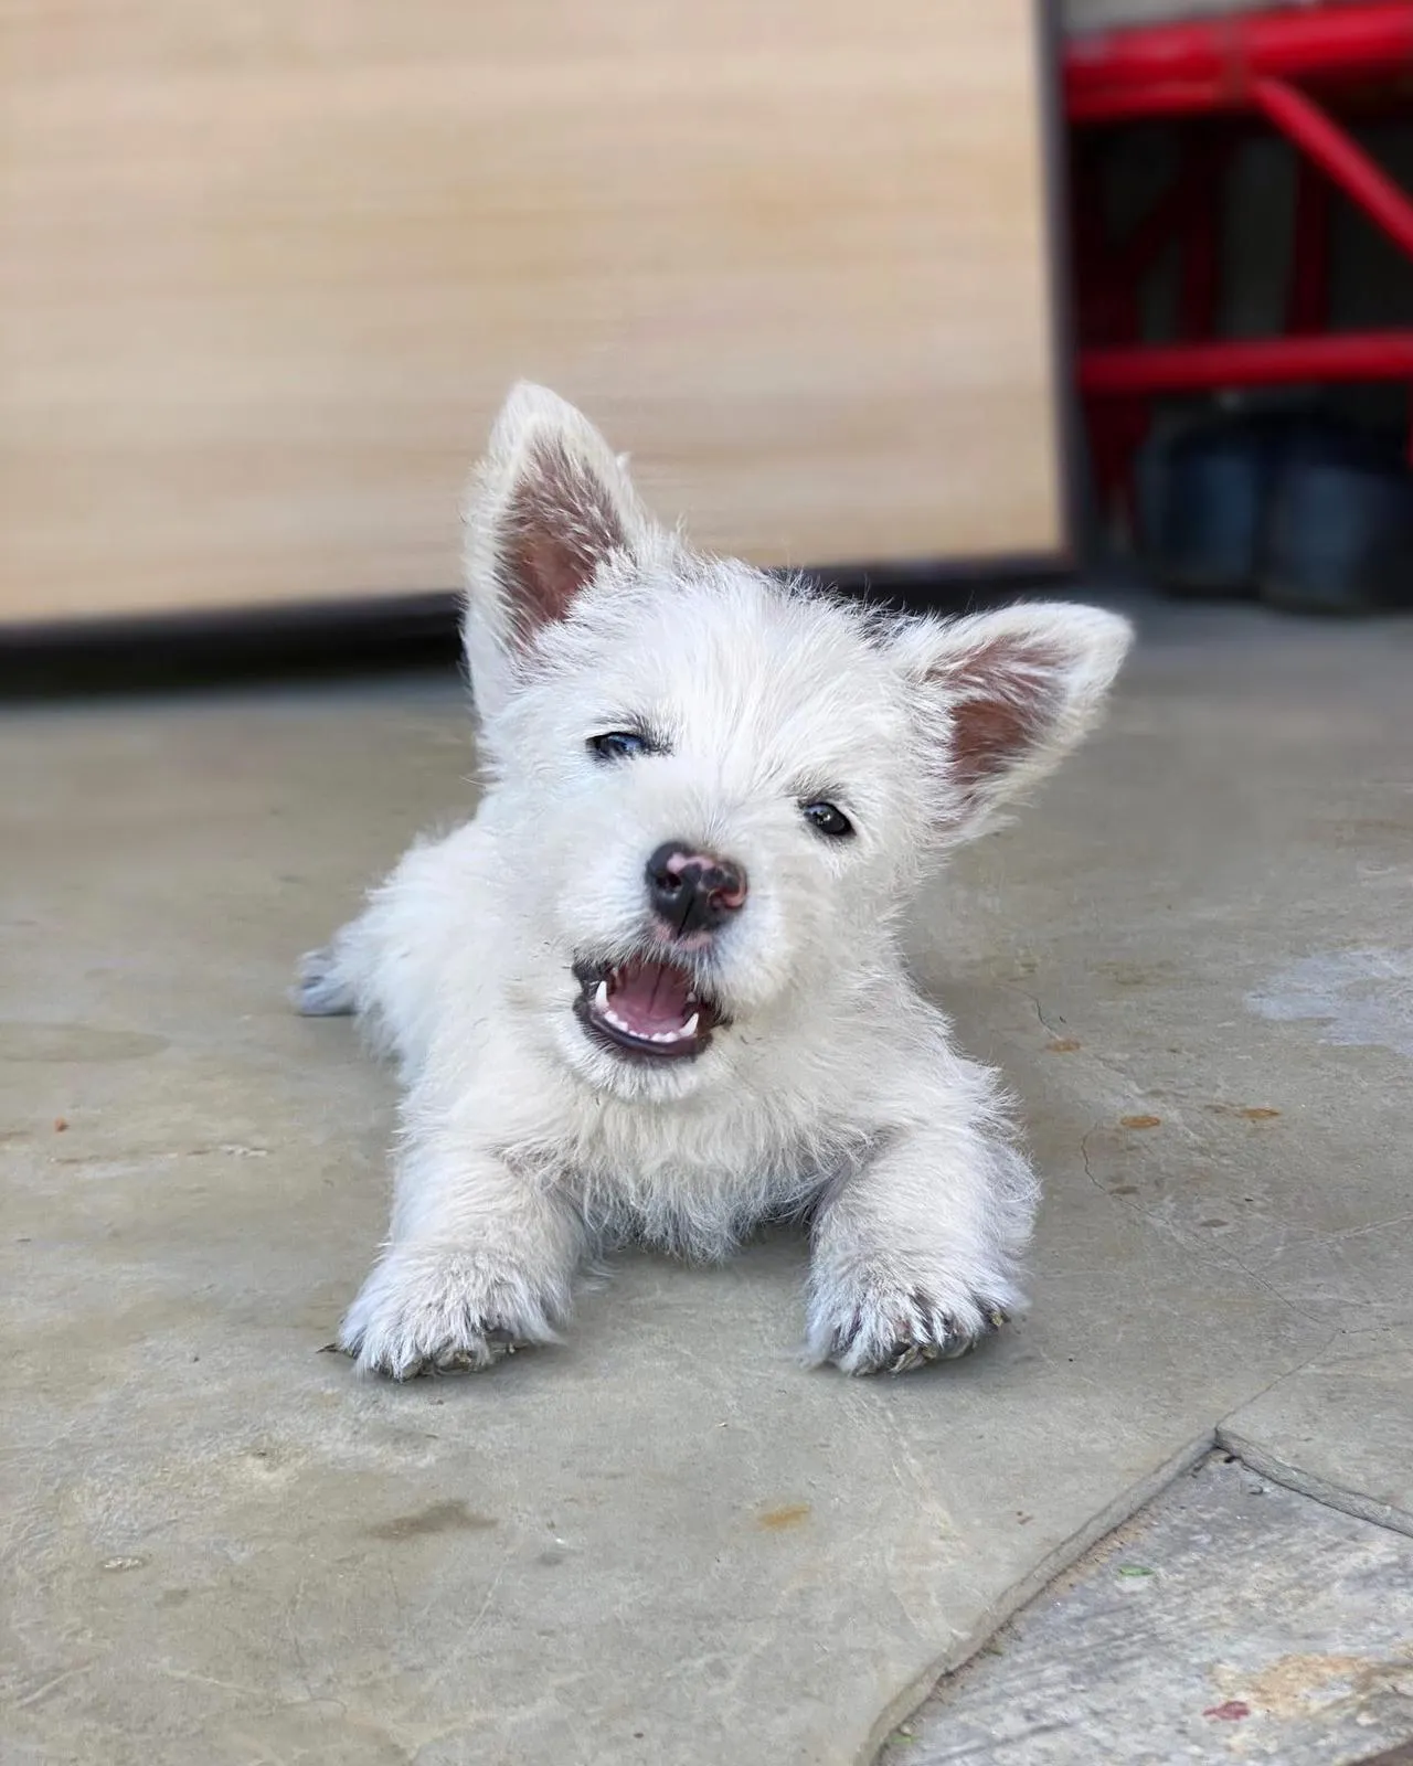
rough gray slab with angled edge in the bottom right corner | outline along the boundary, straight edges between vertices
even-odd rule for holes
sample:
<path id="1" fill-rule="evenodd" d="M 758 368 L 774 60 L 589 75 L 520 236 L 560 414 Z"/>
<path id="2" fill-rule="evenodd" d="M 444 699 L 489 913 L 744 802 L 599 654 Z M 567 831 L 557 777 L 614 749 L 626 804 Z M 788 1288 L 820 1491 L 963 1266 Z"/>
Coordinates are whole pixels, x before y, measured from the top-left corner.
<path id="1" fill-rule="evenodd" d="M 881 1766 L 1356 1766 L 1413 1736 L 1413 1540 L 1222 1455 L 947 1679 Z"/>

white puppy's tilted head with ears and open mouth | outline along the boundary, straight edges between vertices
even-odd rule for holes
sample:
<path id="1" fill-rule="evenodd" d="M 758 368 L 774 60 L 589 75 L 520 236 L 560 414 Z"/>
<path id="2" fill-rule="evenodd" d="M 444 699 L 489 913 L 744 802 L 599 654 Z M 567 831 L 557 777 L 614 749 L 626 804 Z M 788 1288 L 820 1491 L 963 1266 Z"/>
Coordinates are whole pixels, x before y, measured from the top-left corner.
<path id="1" fill-rule="evenodd" d="M 1130 639 L 1090 608 L 883 622 L 694 555 L 539 387 L 502 411 L 466 532 L 512 985 L 623 1097 L 818 1051 L 926 860 L 1074 747 Z"/>

